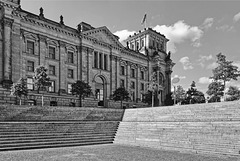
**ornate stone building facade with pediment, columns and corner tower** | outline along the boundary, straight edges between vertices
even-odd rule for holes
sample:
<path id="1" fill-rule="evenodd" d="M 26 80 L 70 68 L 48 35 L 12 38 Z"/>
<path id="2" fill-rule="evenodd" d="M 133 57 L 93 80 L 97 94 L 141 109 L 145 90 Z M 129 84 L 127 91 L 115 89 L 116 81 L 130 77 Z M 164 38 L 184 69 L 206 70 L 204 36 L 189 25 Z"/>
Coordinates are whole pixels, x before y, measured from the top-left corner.
<path id="1" fill-rule="evenodd" d="M 153 73 L 158 105 L 171 91 L 174 63 L 166 53 L 168 39 L 151 28 L 129 36 L 123 46 L 105 26 L 81 22 L 72 28 L 62 16 L 59 22 L 47 19 L 42 8 L 39 15 L 21 9 L 20 0 L 0 0 L 0 20 L 0 90 L 25 77 L 28 99 L 38 103 L 32 76 L 37 66 L 44 65 L 51 79 L 46 104 L 77 104 L 78 98 L 70 94 L 76 80 L 92 87 L 93 96 L 83 102 L 85 106 L 119 106 L 111 95 L 121 85 L 130 92 L 130 103 L 142 106 Z"/>

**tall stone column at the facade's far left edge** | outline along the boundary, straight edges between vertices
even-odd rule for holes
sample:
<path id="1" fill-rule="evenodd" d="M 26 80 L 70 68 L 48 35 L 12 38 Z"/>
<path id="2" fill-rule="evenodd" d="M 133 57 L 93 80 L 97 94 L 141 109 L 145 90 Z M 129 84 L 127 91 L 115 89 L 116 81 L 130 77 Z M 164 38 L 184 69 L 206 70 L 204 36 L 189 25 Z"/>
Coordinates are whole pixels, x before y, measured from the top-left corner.
<path id="1" fill-rule="evenodd" d="M 11 80 L 11 30 L 13 19 L 3 19 L 3 79 Z"/>

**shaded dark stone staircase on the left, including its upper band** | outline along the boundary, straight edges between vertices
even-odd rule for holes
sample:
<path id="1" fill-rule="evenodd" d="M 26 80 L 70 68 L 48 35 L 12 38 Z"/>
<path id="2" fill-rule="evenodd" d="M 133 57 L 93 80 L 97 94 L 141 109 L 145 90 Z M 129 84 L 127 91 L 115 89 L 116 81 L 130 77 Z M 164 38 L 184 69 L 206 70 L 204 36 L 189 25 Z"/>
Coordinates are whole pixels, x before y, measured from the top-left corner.
<path id="1" fill-rule="evenodd" d="M 123 110 L 0 106 L 0 151 L 113 143 Z"/>

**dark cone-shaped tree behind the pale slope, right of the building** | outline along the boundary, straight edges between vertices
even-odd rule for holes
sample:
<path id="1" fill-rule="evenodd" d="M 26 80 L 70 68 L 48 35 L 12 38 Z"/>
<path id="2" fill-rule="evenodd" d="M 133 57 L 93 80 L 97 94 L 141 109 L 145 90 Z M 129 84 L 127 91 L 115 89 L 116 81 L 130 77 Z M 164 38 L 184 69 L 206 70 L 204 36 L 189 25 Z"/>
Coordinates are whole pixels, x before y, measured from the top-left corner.
<path id="1" fill-rule="evenodd" d="M 197 90 L 195 81 L 192 81 L 190 88 L 186 92 L 186 99 L 184 100 L 183 103 L 184 104 L 205 103 L 204 94 L 201 91 Z"/>

